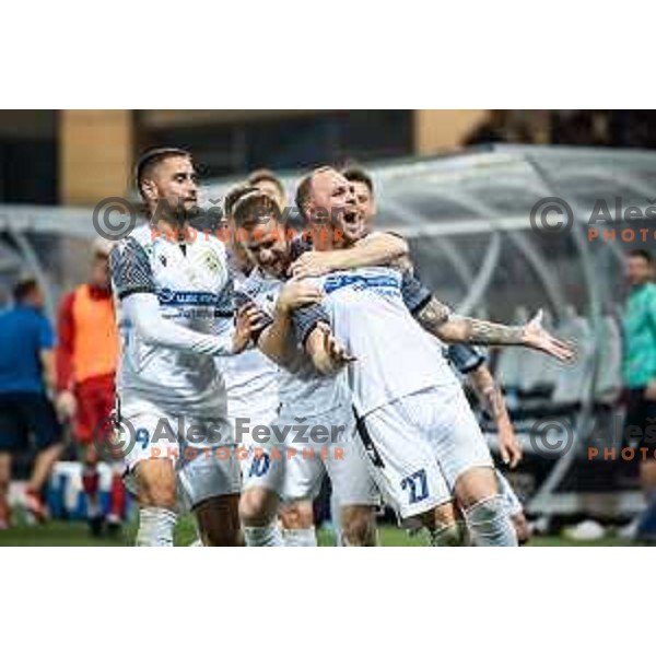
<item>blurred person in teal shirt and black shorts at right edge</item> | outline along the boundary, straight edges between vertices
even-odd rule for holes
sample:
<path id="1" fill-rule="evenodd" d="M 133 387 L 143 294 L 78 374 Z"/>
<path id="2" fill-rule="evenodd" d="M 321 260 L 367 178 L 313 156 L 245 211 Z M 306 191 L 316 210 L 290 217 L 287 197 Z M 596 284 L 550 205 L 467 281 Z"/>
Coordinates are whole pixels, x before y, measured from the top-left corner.
<path id="1" fill-rule="evenodd" d="M 656 422 L 656 284 L 652 282 L 653 259 L 649 253 L 632 250 L 626 261 L 626 276 L 631 292 L 623 316 L 622 374 L 628 389 L 624 441 L 639 438 L 640 446 L 652 447 L 647 459 L 641 460 L 640 476 L 647 509 L 635 528 L 639 538 L 655 540 L 656 460 L 647 429 Z"/>

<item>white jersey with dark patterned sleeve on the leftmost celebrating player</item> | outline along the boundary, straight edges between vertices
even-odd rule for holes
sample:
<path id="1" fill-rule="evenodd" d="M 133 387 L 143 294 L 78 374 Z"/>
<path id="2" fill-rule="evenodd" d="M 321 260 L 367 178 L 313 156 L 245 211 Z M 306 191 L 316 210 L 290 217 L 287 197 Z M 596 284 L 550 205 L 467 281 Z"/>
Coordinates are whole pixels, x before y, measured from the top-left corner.
<path id="1" fill-rule="evenodd" d="M 131 294 L 155 294 L 160 316 L 199 333 L 233 329 L 232 281 L 223 244 L 209 235 L 180 247 L 142 225 L 112 250 L 112 281 L 121 336 L 117 393 L 125 413 L 225 418 L 225 384 L 211 354 L 145 343 L 121 312 Z"/>

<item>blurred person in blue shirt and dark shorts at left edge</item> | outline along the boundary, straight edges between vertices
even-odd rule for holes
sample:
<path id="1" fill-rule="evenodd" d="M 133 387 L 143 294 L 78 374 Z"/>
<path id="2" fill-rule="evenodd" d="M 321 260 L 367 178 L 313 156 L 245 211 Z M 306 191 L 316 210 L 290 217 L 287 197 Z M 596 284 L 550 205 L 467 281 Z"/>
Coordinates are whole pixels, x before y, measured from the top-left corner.
<path id="1" fill-rule="evenodd" d="M 43 314 L 36 281 L 14 288 L 13 308 L 0 314 L 0 529 L 10 525 L 12 454 L 34 436 L 38 452 L 25 489 L 25 508 L 37 522 L 47 518 L 43 488 L 61 453 L 61 430 L 48 395 L 55 386 L 55 335 Z"/>

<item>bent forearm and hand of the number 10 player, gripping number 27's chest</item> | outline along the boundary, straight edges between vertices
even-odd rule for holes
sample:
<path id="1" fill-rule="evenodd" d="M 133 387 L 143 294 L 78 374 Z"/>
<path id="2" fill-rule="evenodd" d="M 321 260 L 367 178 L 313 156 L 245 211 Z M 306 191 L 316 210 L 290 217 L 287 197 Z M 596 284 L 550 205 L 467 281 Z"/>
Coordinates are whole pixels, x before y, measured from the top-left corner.
<path id="1" fill-rule="evenodd" d="M 307 282 L 290 281 L 281 290 L 272 323 L 262 330 L 257 347 L 280 366 L 288 366 L 296 349 L 294 312 L 320 303 L 321 291 Z"/>

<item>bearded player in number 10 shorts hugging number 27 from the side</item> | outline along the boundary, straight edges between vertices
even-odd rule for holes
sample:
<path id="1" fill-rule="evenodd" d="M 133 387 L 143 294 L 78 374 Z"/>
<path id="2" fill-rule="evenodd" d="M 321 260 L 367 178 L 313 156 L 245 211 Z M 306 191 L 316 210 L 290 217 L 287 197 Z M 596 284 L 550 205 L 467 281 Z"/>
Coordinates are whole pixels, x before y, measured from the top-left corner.
<path id="1" fill-rule="evenodd" d="M 292 312 L 316 304 L 320 296 L 312 285 L 284 284 L 294 246 L 298 244 L 290 241 L 277 203 L 253 189 L 236 201 L 232 213 L 237 230 L 243 231 L 244 246 L 257 262 L 242 292 L 260 305 L 273 321 L 257 341 L 258 348 L 281 364 L 281 407 L 272 429 L 280 432 L 302 425 L 311 436 L 329 432 L 330 437 L 337 438 L 330 442 L 327 459 L 306 458 L 301 447 L 294 457 L 286 457 L 289 450 L 283 446 L 261 445 L 260 454 L 250 460 L 239 506 L 246 542 L 280 544 L 274 517 L 281 500 L 309 504 L 323 477 L 328 475 L 341 507 L 344 542 L 373 546 L 375 528 L 371 508 L 378 496 L 367 473 L 366 456 L 353 440 L 351 399 L 342 371 L 349 359 L 331 338 L 317 333 L 308 344 L 320 366 L 321 373 L 317 373 L 291 333 Z M 309 320 L 314 321 L 314 316 L 312 313 Z M 309 444 L 314 446 L 312 441 Z M 335 454 L 336 445 L 341 457 Z M 282 458 L 274 457 L 274 450 L 282 450 Z"/>

